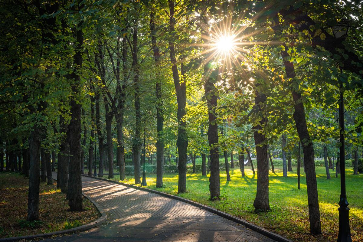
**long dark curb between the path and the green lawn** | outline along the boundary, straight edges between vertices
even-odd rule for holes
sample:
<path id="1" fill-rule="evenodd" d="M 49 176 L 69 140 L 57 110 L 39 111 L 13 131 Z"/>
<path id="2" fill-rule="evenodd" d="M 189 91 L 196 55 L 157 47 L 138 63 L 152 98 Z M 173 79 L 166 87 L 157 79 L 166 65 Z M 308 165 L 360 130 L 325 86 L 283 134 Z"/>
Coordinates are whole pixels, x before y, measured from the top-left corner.
<path id="1" fill-rule="evenodd" d="M 205 206 L 205 205 L 200 204 L 198 202 L 194 202 L 194 201 L 191 201 L 191 200 L 188 200 L 188 199 L 185 199 L 185 198 L 182 198 L 182 197 L 174 196 L 174 195 L 171 195 L 171 194 L 168 194 L 168 193 L 155 191 L 155 190 L 152 190 L 152 189 L 149 189 L 149 188 L 144 188 L 142 186 L 135 186 L 135 185 L 127 184 L 127 183 L 120 182 L 120 181 L 113 181 L 113 180 L 105 179 L 105 178 L 102 178 L 102 177 L 94 177 L 94 176 L 88 176 L 88 175 L 82 175 L 82 176 L 91 177 L 91 178 L 98 179 L 98 180 L 103 180 L 103 181 L 109 181 L 109 182 L 113 182 L 115 184 L 121 184 L 121 185 L 129 186 L 131 188 L 135 188 L 135 189 L 138 189 L 138 190 L 143 190 L 143 191 L 147 191 L 147 192 L 151 192 L 151 193 L 156 193 L 156 194 L 159 194 L 159 195 L 164 196 L 164 197 L 179 200 L 179 201 L 185 202 L 187 204 L 191 204 L 193 206 L 196 206 L 198 208 L 207 210 L 208 212 L 215 213 L 215 214 L 217 214 L 217 215 L 219 215 L 219 216 L 221 216 L 223 218 L 227 218 L 228 220 L 231 220 L 233 222 L 240 223 L 241 225 L 244 225 L 245 227 L 247 227 L 247 228 L 249 228 L 251 230 L 257 231 L 258 233 L 263 234 L 263 235 L 265 235 L 265 236 L 267 236 L 267 237 L 269 237 L 271 239 L 274 239 L 274 240 L 276 240 L 278 242 L 293 242 L 292 240 L 287 239 L 287 238 L 285 238 L 285 237 L 283 237 L 283 236 L 281 236 L 279 234 L 275 234 L 275 233 L 273 233 L 273 232 L 271 232 L 271 231 L 269 231 L 267 229 L 264 229 L 264 228 L 262 228 L 260 226 L 254 225 L 254 224 L 249 223 L 249 222 L 247 222 L 245 220 L 241 220 L 240 218 L 232 216 L 231 214 L 221 212 L 219 210 L 216 210 L 216 209 L 211 208 L 209 206 Z"/>

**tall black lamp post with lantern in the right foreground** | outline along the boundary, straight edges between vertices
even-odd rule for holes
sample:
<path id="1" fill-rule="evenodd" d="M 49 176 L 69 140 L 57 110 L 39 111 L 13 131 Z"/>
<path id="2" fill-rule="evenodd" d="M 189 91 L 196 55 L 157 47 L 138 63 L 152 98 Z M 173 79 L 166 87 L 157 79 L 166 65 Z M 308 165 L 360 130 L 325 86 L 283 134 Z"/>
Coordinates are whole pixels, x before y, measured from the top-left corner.
<path id="1" fill-rule="evenodd" d="M 348 19 L 340 21 L 339 25 L 333 27 L 335 38 L 345 38 L 349 29 Z M 340 68 L 340 73 L 342 69 Z M 339 232 L 338 242 L 351 242 L 352 237 L 349 227 L 349 208 L 345 188 L 345 142 L 344 142 L 344 99 L 343 99 L 343 81 L 339 80 L 339 126 L 340 126 L 340 200 L 339 200 Z"/>

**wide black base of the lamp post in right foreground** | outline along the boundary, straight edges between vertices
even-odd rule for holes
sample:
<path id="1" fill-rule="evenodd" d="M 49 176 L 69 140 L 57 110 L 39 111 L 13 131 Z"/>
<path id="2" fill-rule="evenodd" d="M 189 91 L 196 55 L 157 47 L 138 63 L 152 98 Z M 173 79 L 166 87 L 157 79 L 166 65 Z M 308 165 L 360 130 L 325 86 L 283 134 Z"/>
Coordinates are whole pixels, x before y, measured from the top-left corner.
<path id="1" fill-rule="evenodd" d="M 338 242 L 352 242 L 349 227 L 349 208 L 346 195 L 340 195 Z"/>

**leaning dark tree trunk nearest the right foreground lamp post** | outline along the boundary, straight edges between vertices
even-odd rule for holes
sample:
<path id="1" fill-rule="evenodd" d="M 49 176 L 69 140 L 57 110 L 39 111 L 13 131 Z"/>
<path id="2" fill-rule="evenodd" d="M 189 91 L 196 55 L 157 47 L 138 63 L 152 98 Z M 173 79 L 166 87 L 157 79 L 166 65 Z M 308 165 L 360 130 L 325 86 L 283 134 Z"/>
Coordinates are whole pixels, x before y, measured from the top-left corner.
<path id="1" fill-rule="evenodd" d="M 278 22 L 278 20 L 276 21 Z M 281 50 L 281 56 L 284 59 L 284 66 L 287 78 L 296 76 L 293 62 L 288 61 L 289 54 L 287 46 L 283 43 L 285 50 Z M 294 101 L 293 118 L 295 120 L 296 130 L 300 141 L 302 142 L 302 151 L 304 154 L 304 167 L 306 175 L 307 201 L 309 206 L 310 233 L 321 234 L 321 222 L 319 211 L 318 185 L 315 173 L 314 148 L 307 130 L 304 104 L 302 95 L 299 90 L 291 88 L 291 95 Z"/>

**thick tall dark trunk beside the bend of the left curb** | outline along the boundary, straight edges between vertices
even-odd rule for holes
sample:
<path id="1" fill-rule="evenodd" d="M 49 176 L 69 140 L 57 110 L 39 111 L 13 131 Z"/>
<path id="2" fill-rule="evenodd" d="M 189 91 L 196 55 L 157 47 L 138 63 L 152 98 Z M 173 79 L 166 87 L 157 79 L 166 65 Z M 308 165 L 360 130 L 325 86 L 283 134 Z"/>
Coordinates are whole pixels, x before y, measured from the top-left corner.
<path id="1" fill-rule="evenodd" d="M 78 11 L 82 6 L 78 6 Z M 82 69 L 82 21 L 78 23 L 76 30 L 77 45 L 75 54 L 73 56 L 74 70 L 71 74 L 72 77 L 72 96 L 70 100 L 70 113 L 71 119 L 69 123 L 69 147 L 70 147 L 70 160 L 69 160 L 69 182 L 68 182 L 68 205 L 70 211 L 82 211 L 82 180 L 81 180 L 81 104 L 76 100 L 78 95 L 82 92 L 81 86 L 81 73 Z"/>

